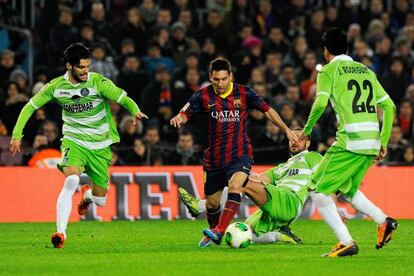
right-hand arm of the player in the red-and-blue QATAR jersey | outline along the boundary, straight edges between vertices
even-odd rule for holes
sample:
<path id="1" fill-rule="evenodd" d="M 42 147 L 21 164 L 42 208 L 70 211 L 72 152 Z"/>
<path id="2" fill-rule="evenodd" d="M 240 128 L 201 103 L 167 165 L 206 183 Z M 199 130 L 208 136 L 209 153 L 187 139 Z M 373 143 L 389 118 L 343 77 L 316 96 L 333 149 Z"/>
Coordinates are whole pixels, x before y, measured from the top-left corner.
<path id="1" fill-rule="evenodd" d="M 298 142 L 298 137 L 286 126 L 279 114 L 268 103 L 266 103 L 255 91 L 247 90 L 247 103 L 249 107 L 260 110 L 265 117 L 273 124 L 277 125 L 283 132 L 286 133 L 287 138 L 292 143 Z"/>

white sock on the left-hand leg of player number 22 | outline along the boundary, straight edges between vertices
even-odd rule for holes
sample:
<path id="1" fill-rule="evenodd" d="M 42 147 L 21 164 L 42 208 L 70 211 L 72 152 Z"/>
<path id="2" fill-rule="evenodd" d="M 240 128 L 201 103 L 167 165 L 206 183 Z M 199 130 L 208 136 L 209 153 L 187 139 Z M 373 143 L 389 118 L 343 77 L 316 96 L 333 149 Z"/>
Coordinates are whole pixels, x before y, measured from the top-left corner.
<path id="1" fill-rule="evenodd" d="M 315 192 L 311 192 L 310 197 L 338 240 L 345 245 L 350 245 L 353 242 L 352 237 L 349 234 L 348 228 L 346 228 L 341 220 L 332 198 L 325 194 Z"/>

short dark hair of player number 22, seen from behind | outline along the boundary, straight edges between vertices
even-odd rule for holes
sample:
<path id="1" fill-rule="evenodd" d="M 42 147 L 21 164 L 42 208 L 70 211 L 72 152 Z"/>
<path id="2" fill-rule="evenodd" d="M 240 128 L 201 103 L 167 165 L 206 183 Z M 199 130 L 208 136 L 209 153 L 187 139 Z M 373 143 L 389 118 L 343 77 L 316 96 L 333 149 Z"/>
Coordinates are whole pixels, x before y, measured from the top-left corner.
<path id="1" fill-rule="evenodd" d="M 331 28 L 322 35 L 323 46 L 334 56 L 348 52 L 348 38 L 340 28 Z"/>

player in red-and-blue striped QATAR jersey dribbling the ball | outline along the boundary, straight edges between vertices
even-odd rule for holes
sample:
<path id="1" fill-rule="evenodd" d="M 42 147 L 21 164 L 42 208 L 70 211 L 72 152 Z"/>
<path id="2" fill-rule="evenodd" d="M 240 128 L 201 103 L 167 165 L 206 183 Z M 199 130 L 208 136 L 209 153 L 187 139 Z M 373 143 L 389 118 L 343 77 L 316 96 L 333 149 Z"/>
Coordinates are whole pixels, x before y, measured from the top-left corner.
<path id="1" fill-rule="evenodd" d="M 196 92 L 171 125 L 180 127 L 195 114 L 203 114 L 208 127 L 208 147 L 204 152 L 207 221 L 210 229 L 199 246 L 211 241 L 221 243 L 224 230 L 238 212 L 242 184 L 247 181 L 252 165 L 252 147 L 246 132 L 248 110 L 258 109 L 280 127 L 292 142 L 296 135 L 283 123 L 277 112 L 252 89 L 232 82 L 230 62 L 217 58 L 210 63 L 208 85 Z M 220 212 L 220 197 L 224 186 L 229 187 L 227 201 Z"/>

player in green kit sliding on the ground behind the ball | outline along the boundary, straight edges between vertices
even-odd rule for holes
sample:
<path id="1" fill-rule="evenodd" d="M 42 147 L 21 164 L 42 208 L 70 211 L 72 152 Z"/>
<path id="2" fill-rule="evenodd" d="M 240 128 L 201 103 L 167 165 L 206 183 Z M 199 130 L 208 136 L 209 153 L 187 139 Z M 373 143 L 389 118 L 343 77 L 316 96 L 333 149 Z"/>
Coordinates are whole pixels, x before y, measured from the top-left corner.
<path id="1" fill-rule="evenodd" d="M 302 130 L 293 132 L 302 135 Z M 300 215 L 308 197 L 308 181 L 322 160 L 319 153 L 307 151 L 309 145 L 310 140 L 302 140 L 297 144 L 289 142 L 293 156 L 286 163 L 259 175 L 250 175 L 242 188 L 260 207 L 246 220 L 253 230 L 253 242 L 301 242 L 288 225 Z M 179 189 L 179 195 L 192 215 L 200 213 L 196 198 L 183 188 Z"/>

